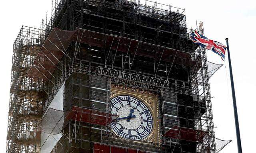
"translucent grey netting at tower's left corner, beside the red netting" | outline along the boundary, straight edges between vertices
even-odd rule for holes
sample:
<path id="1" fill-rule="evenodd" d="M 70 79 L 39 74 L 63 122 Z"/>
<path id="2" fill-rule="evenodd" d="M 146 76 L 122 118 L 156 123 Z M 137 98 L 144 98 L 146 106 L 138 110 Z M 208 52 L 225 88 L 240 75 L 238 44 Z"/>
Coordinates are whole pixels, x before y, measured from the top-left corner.
<path id="1" fill-rule="evenodd" d="M 61 133 L 76 111 L 62 111 L 49 108 L 42 117 L 37 129 L 48 134 Z"/>

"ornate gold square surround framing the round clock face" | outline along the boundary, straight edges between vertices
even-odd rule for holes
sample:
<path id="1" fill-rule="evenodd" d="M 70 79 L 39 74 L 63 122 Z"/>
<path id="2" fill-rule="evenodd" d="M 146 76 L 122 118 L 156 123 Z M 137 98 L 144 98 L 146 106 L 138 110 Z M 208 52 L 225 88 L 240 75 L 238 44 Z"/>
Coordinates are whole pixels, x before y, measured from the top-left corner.
<path id="1" fill-rule="evenodd" d="M 139 90 L 134 88 L 124 88 L 124 86 L 111 85 L 111 95 L 110 98 L 114 98 L 120 95 L 129 95 L 142 100 L 142 102 L 150 109 L 153 117 L 153 129 L 142 141 L 149 144 L 158 144 L 160 139 L 159 121 L 158 121 L 158 98 L 157 94 L 152 94 L 146 90 Z M 122 138 L 124 139 L 124 138 Z M 141 142 L 141 141 L 134 141 Z"/>

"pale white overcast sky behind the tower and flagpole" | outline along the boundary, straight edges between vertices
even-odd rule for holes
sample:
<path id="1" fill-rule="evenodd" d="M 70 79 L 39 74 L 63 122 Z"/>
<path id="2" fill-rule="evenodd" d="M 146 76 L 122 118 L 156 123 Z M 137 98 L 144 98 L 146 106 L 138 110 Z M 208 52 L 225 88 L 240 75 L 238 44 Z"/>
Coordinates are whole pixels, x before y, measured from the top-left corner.
<path id="1" fill-rule="evenodd" d="M 141 3 L 144 3 L 141 0 Z M 226 44 L 229 38 L 236 100 L 244 153 L 255 152 L 254 131 L 256 112 L 256 1 L 255 0 L 158 0 L 185 8 L 188 27 L 196 27 L 196 21 L 204 22 L 204 33 L 209 39 Z M 50 14 L 52 0 L 1 0 L 0 2 L 0 152 L 6 151 L 6 133 L 9 104 L 12 45 L 22 25 L 39 27 L 46 11 Z M 158 5 L 159 6 L 159 5 Z M 210 78 L 215 136 L 232 140 L 221 153 L 235 153 L 236 131 L 230 88 L 228 59 L 223 62 L 218 55 L 208 51 L 208 61 L 224 64 Z M 227 57 L 227 55 L 226 55 Z"/>

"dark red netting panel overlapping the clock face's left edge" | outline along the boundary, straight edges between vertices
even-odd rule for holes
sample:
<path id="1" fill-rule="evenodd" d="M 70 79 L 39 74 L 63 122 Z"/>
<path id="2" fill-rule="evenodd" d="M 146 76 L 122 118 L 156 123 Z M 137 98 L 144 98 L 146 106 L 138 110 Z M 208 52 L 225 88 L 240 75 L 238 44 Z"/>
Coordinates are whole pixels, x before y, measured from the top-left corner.
<path id="1" fill-rule="evenodd" d="M 72 111 L 76 113 L 72 116 L 72 119 L 77 122 L 86 122 L 95 125 L 106 126 L 112 123 L 117 118 L 117 115 L 106 113 L 90 108 L 81 108 L 72 106 Z"/>

